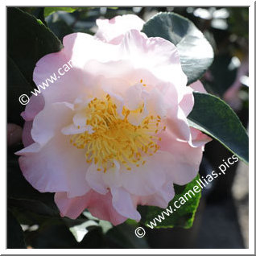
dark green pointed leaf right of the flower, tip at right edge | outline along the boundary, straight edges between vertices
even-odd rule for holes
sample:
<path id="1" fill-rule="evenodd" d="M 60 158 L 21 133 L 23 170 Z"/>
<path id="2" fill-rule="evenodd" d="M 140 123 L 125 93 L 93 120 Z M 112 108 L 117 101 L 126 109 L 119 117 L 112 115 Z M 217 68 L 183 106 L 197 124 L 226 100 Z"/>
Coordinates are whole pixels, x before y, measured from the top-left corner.
<path id="1" fill-rule="evenodd" d="M 245 163 L 249 161 L 249 138 L 233 110 L 220 98 L 194 93 L 195 105 L 188 115 L 189 125 L 216 138 Z"/>

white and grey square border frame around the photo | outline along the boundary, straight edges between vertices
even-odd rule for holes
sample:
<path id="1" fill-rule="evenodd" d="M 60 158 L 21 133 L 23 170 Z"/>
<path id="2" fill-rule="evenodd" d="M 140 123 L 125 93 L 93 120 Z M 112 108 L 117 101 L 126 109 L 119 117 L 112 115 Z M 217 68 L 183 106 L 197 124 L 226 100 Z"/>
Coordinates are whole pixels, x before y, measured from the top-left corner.
<path id="1" fill-rule="evenodd" d="M 157 5 L 155 4 L 157 2 Z M 64 1 L 31 1 L 24 0 L 19 2 L 17 0 L 4 1 L 1 8 L 1 26 L 2 33 L 6 31 L 6 6 L 70 6 L 71 2 L 67 0 Z M 211 4 L 210 4 L 211 3 Z M 72 1 L 72 6 L 250 6 L 250 23 L 249 23 L 249 64 L 250 64 L 250 93 L 249 93 L 249 102 L 250 102 L 250 114 L 249 114 L 249 134 L 250 134 L 250 179 L 249 179 L 249 249 L 36 249 L 36 250 L 27 250 L 27 249 L 6 249 L 6 211 L 1 211 L 1 241 L 0 241 L 0 253 L 1 254 L 254 254 L 254 1 L 243 0 L 236 1 L 233 0 L 215 0 L 208 1 L 207 4 L 205 1 L 201 0 L 172 0 L 172 1 L 142 1 L 142 0 L 130 0 L 130 1 L 118 1 L 118 0 L 88 0 L 88 1 Z M 192 5 L 193 4 L 193 5 Z M 6 78 L 6 39 L 1 40 L 1 52 L 2 52 L 2 68 L 1 68 L 1 77 Z M 1 95 L 2 101 L 0 101 L 0 109 L 3 114 L 3 109 L 6 110 L 6 79 L 3 81 Z M 6 111 L 5 111 L 6 114 Z M 1 123 L 1 134 L 6 136 L 6 120 L 2 118 Z M 5 128 L 4 128 L 5 127 Z M 3 139 L 4 141 L 4 139 Z M 2 143 L 2 151 L 6 151 L 6 144 Z M 2 204 L 6 204 L 6 155 L 1 154 L 1 163 L 4 163 L 2 168 L 2 179 L 1 179 L 1 199 Z M 5 203 L 4 203 L 5 202 Z M 138 238 L 139 239 L 139 238 Z"/>

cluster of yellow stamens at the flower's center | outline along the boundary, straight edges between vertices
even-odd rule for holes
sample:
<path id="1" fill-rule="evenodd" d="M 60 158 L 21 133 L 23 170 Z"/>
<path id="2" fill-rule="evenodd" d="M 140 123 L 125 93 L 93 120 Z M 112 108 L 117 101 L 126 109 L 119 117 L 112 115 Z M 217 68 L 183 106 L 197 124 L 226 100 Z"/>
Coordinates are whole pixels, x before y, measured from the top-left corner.
<path id="1" fill-rule="evenodd" d="M 159 150 L 157 142 L 161 140 L 156 136 L 160 130 L 159 116 L 149 115 L 138 126 L 128 121 L 130 114 L 141 114 L 143 107 L 129 110 L 124 106 L 121 117 L 109 94 L 103 100 L 95 97 L 85 109 L 86 125 L 92 127 L 93 133 L 74 134 L 70 142 L 85 149 L 86 162 L 97 164 L 97 171 L 114 167 L 114 161 L 122 163 L 127 170 L 131 170 L 131 166 L 139 167 L 146 163 L 144 155 L 153 155 Z"/>

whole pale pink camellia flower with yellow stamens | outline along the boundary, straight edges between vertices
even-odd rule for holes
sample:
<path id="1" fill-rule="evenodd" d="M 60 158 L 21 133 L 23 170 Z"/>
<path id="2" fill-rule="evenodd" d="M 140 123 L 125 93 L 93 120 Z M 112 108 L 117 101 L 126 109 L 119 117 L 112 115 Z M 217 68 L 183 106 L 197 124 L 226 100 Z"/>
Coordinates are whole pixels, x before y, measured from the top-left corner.
<path id="1" fill-rule="evenodd" d="M 137 29 L 110 43 L 99 34 L 67 35 L 60 52 L 38 61 L 36 85 L 69 60 L 72 69 L 31 97 L 17 154 L 34 188 L 56 192 L 61 216 L 89 209 L 118 225 L 139 221 L 138 204 L 166 208 L 173 184 L 195 178 L 211 138 L 188 126 L 193 89 L 172 43 Z"/>

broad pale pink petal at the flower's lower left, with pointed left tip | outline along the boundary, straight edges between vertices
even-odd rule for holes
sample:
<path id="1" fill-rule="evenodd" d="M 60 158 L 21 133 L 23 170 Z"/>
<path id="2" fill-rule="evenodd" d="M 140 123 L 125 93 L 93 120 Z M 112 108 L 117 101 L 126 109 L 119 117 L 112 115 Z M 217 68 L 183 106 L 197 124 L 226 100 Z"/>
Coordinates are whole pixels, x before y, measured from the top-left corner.
<path id="1" fill-rule="evenodd" d="M 89 165 L 84 152 L 68 140 L 67 136 L 59 134 L 43 147 L 31 148 L 30 152 L 27 147 L 16 153 L 22 155 L 19 166 L 23 175 L 39 192 L 68 192 L 68 196 L 81 196 L 89 191 L 85 179 Z"/>

